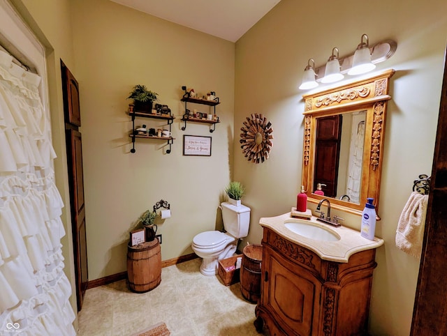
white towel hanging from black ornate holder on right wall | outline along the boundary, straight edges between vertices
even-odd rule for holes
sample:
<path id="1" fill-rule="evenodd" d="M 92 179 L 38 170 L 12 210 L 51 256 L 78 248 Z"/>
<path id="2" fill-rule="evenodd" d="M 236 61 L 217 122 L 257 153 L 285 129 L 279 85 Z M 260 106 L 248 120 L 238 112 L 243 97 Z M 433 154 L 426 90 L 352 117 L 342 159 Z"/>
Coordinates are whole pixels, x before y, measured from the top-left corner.
<path id="1" fill-rule="evenodd" d="M 428 195 L 411 192 L 397 224 L 396 246 L 416 258 L 422 252 L 427 201 Z"/>

